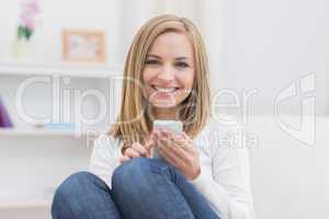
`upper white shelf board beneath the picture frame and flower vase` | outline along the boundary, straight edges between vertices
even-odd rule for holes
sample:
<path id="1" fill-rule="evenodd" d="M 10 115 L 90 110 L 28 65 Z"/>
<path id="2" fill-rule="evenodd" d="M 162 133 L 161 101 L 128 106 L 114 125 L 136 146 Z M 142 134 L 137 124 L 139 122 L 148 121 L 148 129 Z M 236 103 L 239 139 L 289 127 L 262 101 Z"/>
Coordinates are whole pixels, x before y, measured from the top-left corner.
<path id="1" fill-rule="evenodd" d="M 121 76 L 122 71 L 107 66 L 77 64 L 32 64 L 32 62 L 0 62 L 0 74 L 10 76 L 67 76 L 77 78 L 110 78 Z"/>

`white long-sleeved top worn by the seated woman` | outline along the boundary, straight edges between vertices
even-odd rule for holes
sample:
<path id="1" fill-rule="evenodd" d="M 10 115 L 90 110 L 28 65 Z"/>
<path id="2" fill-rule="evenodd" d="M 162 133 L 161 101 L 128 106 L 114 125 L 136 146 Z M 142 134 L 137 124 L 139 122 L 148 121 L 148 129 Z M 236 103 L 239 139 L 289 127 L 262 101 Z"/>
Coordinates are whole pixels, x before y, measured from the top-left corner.
<path id="1" fill-rule="evenodd" d="M 190 181 L 222 219 L 253 219 L 248 150 L 239 146 L 237 128 L 209 123 L 193 139 L 200 154 L 201 174 Z M 122 143 L 107 135 L 94 142 L 89 171 L 111 188 L 112 174 L 121 163 Z"/>

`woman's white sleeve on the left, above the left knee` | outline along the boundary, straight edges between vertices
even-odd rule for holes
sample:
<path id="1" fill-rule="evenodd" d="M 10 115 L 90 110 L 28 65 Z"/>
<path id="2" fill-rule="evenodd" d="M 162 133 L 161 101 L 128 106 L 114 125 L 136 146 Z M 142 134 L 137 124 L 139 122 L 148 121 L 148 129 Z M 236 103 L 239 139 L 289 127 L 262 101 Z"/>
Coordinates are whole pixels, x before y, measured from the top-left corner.
<path id="1" fill-rule="evenodd" d="M 121 143 L 107 135 L 101 135 L 93 145 L 89 172 L 103 180 L 112 188 L 112 175 L 120 165 Z"/>

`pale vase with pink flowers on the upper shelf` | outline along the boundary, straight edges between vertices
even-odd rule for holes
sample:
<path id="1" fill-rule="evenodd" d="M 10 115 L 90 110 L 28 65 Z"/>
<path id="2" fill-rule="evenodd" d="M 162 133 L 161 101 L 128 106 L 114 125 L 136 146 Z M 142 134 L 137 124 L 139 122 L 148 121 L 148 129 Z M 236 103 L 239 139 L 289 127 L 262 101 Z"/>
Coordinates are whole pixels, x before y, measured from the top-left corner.
<path id="1" fill-rule="evenodd" d="M 20 22 L 14 43 L 16 60 L 31 59 L 34 51 L 33 35 L 35 34 L 36 18 L 39 13 L 37 0 L 20 0 Z"/>

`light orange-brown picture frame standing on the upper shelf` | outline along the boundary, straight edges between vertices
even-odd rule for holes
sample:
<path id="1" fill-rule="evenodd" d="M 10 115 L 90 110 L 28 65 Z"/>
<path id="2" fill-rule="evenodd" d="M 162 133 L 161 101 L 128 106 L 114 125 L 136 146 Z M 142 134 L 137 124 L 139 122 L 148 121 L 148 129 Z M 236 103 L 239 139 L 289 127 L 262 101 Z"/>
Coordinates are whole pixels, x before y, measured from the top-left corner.
<path id="1" fill-rule="evenodd" d="M 105 62 L 105 34 L 101 31 L 63 31 L 63 59 Z"/>

